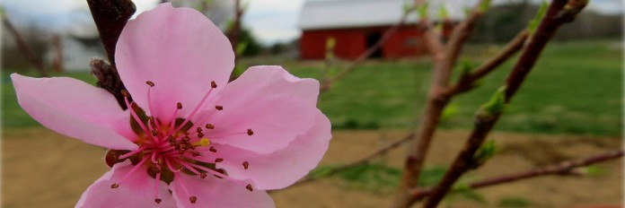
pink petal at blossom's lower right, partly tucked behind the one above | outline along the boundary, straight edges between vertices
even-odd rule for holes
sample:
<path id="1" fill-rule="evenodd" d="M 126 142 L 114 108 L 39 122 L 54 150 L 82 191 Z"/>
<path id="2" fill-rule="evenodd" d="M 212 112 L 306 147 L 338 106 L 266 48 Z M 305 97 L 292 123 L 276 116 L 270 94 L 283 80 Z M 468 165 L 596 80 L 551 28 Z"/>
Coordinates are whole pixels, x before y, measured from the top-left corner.
<path id="1" fill-rule="evenodd" d="M 252 186 L 261 190 L 284 188 L 317 166 L 331 137 L 330 120 L 318 111 L 314 126 L 282 150 L 259 154 L 228 145 L 216 146 L 215 157 L 224 159 L 216 166 L 226 169 L 232 178 L 250 180 Z M 245 161 L 248 169 L 243 168 Z"/>

